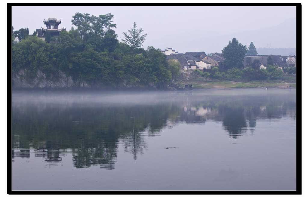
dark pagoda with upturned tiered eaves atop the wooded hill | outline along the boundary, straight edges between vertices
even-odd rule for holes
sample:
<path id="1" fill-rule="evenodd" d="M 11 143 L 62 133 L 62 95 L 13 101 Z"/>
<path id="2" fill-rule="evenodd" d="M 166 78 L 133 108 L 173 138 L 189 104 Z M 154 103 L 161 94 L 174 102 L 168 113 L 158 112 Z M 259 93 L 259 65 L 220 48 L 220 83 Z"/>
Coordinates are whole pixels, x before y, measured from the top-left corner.
<path id="1" fill-rule="evenodd" d="M 57 20 L 57 18 L 48 18 L 47 20 L 44 19 L 44 24 L 46 28 L 41 27 L 41 29 L 36 29 L 36 36 L 45 40 L 46 31 L 48 31 L 51 37 L 59 36 L 61 31 L 66 31 L 63 27 L 58 29 L 59 24 L 61 24 L 61 19 Z"/>

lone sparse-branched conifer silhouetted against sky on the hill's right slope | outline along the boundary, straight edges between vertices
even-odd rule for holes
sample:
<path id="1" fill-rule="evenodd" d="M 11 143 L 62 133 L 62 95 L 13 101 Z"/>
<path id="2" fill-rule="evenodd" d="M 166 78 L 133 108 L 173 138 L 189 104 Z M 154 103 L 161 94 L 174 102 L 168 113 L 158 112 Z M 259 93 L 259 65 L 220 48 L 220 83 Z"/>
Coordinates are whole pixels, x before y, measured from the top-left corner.
<path id="1" fill-rule="evenodd" d="M 124 38 L 121 38 L 121 40 L 125 44 L 128 44 L 135 53 L 136 48 L 142 46 L 146 36 L 148 35 L 147 33 L 142 35 L 142 33 L 143 29 L 140 28 L 138 30 L 136 22 L 134 22 L 133 27 L 131 29 L 127 30 L 127 32 L 123 32 Z"/>

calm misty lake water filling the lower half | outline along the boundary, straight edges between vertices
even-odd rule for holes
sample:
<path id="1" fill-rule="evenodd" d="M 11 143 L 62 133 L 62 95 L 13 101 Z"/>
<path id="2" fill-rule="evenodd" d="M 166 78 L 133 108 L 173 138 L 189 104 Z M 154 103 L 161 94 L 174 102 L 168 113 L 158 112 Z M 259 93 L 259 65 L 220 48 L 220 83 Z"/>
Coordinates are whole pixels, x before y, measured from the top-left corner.
<path id="1" fill-rule="evenodd" d="M 13 190 L 295 190 L 294 89 L 14 92 Z"/>

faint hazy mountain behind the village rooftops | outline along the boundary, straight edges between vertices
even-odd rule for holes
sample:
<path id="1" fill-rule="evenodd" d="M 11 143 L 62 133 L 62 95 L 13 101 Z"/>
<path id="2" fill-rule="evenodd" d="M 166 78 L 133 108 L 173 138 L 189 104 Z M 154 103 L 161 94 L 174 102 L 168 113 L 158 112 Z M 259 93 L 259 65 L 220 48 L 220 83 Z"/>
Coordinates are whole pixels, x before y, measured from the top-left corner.
<path id="1" fill-rule="evenodd" d="M 203 26 L 194 27 L 193 31 L 189 32 L 189 34 L 186 29 L 179 29 L 173 35 L 168 35 L 167 31 L 166 35 L 162 36 L 162 38 L 168 38 L 168 44 L 165 44 L 166 42 L 161 39 L 157 39 L 154 43 L 159 48 L 166 48 L 169 45 L 175 48 L 176 51 L 205 51 L 207 54 L 220 53 L 232 38 L 237 38 L 240 43 L 247 45 L 247 47 L 250 42 L 253 42 L 256 47 L 296 47 L 296 18 L 290 18 L 280 24 L 278 23 L 273 21 L 273 24 L 277 25 L 228 34 L 215 31 L 213 28 L 204 31 Z M 218 23 L 217 26 L 223 26 L 223 24 Z M 153 43 L 153 41 L 151 42 Z M 259 54 L 261 55 L 261 53 Z M 287 51 L 284 54 L 289 55 L 290 52 Z"/>

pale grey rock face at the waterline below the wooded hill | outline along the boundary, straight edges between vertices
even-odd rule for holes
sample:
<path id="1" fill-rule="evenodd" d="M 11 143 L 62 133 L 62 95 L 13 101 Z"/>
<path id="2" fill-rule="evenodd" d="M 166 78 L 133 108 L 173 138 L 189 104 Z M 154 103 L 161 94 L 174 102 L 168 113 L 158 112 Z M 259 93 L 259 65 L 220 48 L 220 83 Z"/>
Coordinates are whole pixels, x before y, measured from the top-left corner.
<path id="1" fill-rule="evenodd" d="M 38 70 L 36 76 L 33 79 L 26 78 L 26 70 L 20 70 L 12 77 L 13 88 L 71 88 L 78 86 L 71 76 L 66 76 L 62 71 L 59 71 L 57 76 L 51 76 L 49 78 Z M 89 87 L 89 84 L 82 82 L 80 87 Z"/>

